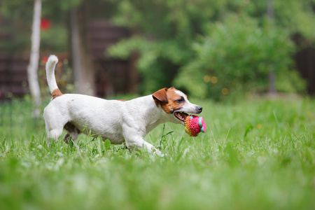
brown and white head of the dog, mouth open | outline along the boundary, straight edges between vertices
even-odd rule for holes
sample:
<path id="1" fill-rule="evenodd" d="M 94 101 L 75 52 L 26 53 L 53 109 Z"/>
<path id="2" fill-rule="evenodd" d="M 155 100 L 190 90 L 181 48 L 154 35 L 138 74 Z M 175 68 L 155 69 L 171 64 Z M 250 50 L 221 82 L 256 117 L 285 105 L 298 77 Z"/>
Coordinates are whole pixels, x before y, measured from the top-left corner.
<path id="1" fill-rule="evenodd" d="M 158 90 L 152 96 L 156 106 L 160 106 L 165 113 L 172 114 L 176 123 L 184 125 L 188 113 L 200 114 L 202 112 L 202 106 L 190 103 L 186 94 L 174 87 Z"/>

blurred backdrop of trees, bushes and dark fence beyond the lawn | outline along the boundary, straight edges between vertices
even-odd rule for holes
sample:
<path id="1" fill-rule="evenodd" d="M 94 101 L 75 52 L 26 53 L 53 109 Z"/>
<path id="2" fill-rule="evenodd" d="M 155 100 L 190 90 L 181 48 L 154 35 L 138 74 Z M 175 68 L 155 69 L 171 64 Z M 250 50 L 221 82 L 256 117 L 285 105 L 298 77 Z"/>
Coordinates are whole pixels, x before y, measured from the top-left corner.
<path id="1" fill-rule="evenodd" d="M 50 54 L 62 92 L 314 94 L 314 47 L 315 0 L 1 0 L 0 101 L 31 93 L 28 71 L 50 96 Z"/>

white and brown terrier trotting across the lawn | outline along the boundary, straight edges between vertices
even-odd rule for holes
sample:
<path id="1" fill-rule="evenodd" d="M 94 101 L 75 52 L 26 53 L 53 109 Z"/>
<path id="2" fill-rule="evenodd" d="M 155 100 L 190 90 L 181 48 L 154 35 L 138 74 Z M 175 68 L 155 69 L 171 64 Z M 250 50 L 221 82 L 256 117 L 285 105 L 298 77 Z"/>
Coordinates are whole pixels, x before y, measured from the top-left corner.
<path id="1" fill-rule="evenodd" d="M 188 101 L 186 94 L 174 87 L 166 87 L 153 94 L 129 101 L 106 100 L 84 94 L 62 94 L 55 79 L 58 58 L 50 55 L 46 63 L 46 76 L 52 99 L 45 107 L 43 118 L 50 139 L 76 141 L 80 133 L 109 139 L 111 144 L 126 143 L 127 148 L 141 149 L 146 146 L 149 153 L 161 155 L 152 144 L 144 141 L 148 132 L 161 123 L 185 125 L 188 113 L 200 114 L 202 106 Z"/>

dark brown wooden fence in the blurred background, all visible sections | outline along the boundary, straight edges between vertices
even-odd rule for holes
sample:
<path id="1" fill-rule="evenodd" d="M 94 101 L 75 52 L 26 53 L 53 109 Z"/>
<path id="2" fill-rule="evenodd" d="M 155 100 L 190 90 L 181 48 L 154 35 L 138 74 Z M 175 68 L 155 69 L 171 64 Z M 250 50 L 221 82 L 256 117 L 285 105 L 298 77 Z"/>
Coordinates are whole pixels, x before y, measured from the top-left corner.
<path id="1" fill-rule="evenodd" d="M 106 20 L 90 23 L 88 40 L 94 62 L 97 96 L 108 97 L 113 94 L 137 92 L 137 55 L 129 59 L 116 59 L 106 54 L 106 49 L 122 38 L 130 36 L 125 27 L 116 27 Z M 1 34 L 0 34 L 1 35 Z M 10 40 L 10 37 L 0 36 Z M 300 38 L 293 38 L 299 43 Z M 302 77 L 307 80 L 309 94 L 315 94 L 315 48 L 307 45 L 295 54 L 295 64 Z M 28 59 L 8 55 L 0 50 L 0 101 L 12 96 L 22 97 L 28 93 Z"/>

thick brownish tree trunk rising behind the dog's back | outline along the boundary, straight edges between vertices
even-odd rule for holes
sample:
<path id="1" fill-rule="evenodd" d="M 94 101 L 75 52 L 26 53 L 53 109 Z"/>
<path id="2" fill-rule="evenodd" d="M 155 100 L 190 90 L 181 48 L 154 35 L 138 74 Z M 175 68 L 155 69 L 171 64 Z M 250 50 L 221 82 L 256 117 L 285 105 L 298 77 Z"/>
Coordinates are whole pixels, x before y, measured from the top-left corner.
<path id="1" fill-rule="evenodd" d="M 85 6 L 72 8 L 70 12 L 71 25 L 71 57 L 76 92 L 95 95 L 94 66 L 88 52 L 87 21 Z M 80 24 L 79 24 L 80 23 Z"/>

